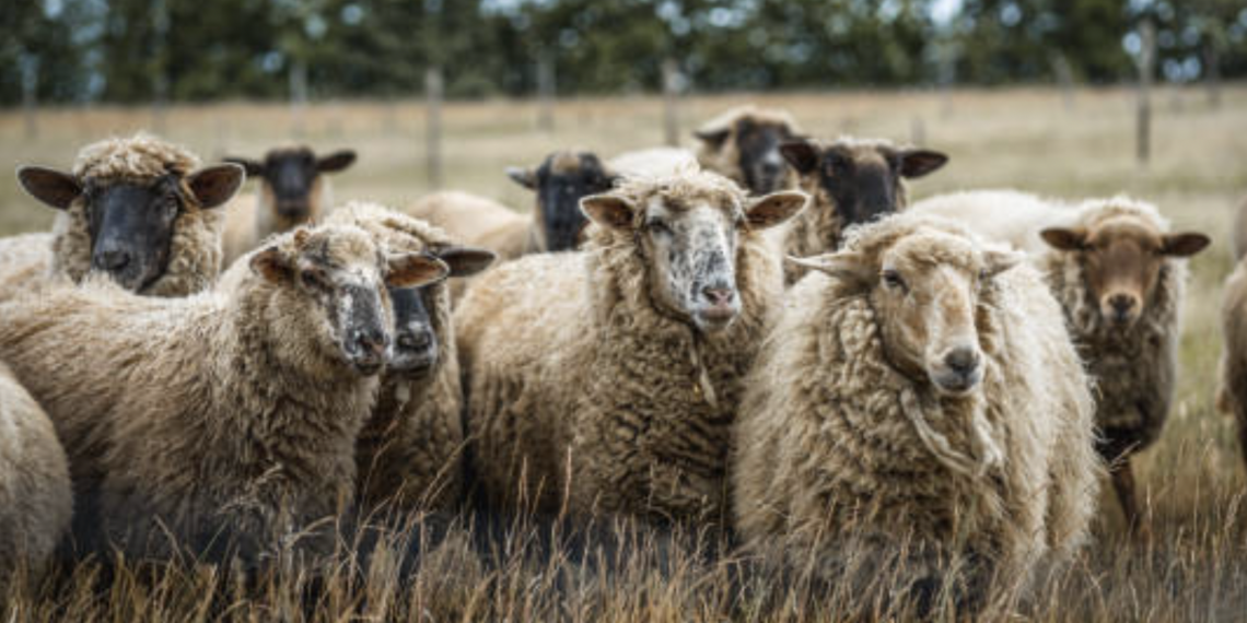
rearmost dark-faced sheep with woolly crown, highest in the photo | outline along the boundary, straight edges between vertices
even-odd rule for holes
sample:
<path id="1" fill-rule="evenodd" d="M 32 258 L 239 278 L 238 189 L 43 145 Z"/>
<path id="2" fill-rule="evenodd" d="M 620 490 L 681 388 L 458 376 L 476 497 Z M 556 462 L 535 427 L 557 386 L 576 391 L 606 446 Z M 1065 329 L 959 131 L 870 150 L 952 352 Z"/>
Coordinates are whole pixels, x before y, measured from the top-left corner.
<path id="1" fill-rule="evenodd" d="M 739 106 L 707 121 L 693 132 L 697 161 L 741 184 L 753 194 L 796 188 L 779 146 L 801 136 L 801 128 L 782 110 Z"/>

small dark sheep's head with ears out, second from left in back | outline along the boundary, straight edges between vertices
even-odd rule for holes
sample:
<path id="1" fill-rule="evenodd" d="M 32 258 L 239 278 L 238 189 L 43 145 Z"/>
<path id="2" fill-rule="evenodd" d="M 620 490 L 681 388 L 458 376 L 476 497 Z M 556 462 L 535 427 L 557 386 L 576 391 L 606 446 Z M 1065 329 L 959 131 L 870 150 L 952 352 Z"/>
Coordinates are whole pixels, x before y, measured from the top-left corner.
<path id="1" fill-rule="evenodd" d="M 317 202 L 322 191 L 322 174 L 337 173 L 355 162 L 355 152 L 342 150 L 328 156 L 317 156 L 307 147 L 269 151 L 263 161 L 229 157 L 247 168 L 247 174 L 263 179 L 261 192 L 277 216 L 303 223 L 318 213 Z"/>

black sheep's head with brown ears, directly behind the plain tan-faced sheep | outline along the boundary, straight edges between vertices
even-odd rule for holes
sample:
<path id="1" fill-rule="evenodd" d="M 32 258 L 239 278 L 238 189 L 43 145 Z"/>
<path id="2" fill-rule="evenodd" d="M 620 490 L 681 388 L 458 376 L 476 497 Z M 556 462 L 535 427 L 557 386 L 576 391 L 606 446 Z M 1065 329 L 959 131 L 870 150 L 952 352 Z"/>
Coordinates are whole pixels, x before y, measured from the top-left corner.
<path id="1" fill-rule="evenodd" d="M 905 204 L 903 178 L 923 177 L 948 162 L 929 150 L 893 147 L 880 142 L 791 141 L 781 152 L 807 187 L 827 196 L 843 227 L 869 223 Z"/>

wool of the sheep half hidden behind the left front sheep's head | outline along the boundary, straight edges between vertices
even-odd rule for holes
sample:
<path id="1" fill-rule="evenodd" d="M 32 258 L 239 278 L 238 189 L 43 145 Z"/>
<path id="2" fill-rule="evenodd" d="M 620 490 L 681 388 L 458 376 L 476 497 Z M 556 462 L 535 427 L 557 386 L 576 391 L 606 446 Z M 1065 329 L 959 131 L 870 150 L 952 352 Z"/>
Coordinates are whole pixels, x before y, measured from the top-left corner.
<path id="1" fill-rule="evenodd" d="M 327 223 L 357 226 L 393 253 L 454 245 L 441 229 L 375 203 L 348 203 Z M 463 488 L 463 389 L 450 287 L 441 282 L 424 292 L 438 336 L 438 363 L 418 379 L 382 375 L 377 404 L 357 445 L 359 498 L 365 507 L 389 502 L 399 510 L 449 508 Z"/>

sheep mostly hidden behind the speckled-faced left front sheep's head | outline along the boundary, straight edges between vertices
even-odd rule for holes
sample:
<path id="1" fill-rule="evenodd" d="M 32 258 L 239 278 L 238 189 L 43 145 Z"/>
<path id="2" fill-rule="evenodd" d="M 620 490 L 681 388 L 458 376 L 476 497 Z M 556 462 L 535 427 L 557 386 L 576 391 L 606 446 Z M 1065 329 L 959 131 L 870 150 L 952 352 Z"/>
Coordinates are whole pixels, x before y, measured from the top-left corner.
<path id="1" fill-rule="evenodd" d="M 440 229 L 375 203 L 348 203 L 325 222 L 359 227 L 392 253 L 429 253 L 446 264 L 449 277 L 475 274 L 494 259 L 488 250 L 460 247 Z M 449 510 L 463 487 L 464 446 L 450 293 L 436 282 L 392 287 L 389 297 L 394 349 L 355 452 L 360 507 Z"/>

